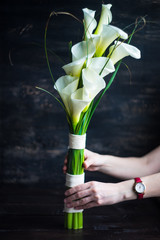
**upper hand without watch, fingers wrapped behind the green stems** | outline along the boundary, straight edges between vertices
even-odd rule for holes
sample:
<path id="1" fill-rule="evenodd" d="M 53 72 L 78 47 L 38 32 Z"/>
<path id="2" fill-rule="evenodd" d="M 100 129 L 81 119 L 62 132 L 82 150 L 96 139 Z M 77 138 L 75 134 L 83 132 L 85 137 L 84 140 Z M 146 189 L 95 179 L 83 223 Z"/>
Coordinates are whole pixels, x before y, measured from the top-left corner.
<path id="1" fill-rule="evenodd" d="M 64 166 L 63 166 L 63 172 L 67 172 L 67 157 L 64 160 Z M 84 150 L 84 163 L 83 167 L 85 170 L 88 171 L 99 171 L 101 168 L 103 168 L 103 165 L 105 163 L 104 156 L 100 155 L 98 153 L 91 152 L 87 149 Z"/>

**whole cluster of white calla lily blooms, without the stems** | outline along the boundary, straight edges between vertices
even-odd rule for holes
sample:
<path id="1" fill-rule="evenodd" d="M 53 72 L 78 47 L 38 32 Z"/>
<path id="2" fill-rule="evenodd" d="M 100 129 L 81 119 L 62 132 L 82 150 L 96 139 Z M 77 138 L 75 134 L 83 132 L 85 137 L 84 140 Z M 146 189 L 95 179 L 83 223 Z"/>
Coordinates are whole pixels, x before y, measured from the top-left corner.
<path id="1" fill-rule="evenodd" d="M 115 71 L 114 64 L 130 55 L 140 58 L 140 51 L 126 43 L 115 41 L 109 49 L 108 57 L 102 57 L 108 46 L 115 39 L 127 39 L 128 34 L 121 29 L 109 25 L 112 21 L 111 4 L 102 5 L 101 17 L 97 26 L 95 11 L 83 9 L 86 41 L 75 44 L 72 49 L 72 62 L 64 65 L 67 75 L 60 77 L 55 83 L 73 126 L 79 122 L 82 112 L 86 112 L 91 101 L 106 87 L 104 77 Z M 82 87 L 79 87 L 82 81 Z"/>

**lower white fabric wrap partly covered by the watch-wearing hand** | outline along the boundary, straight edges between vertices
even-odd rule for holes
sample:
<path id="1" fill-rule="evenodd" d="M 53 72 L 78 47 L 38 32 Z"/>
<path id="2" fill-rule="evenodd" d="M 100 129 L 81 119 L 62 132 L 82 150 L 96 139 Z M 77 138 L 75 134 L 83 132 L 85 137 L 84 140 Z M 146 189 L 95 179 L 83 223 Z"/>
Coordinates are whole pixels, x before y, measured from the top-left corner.
<path id="1" fill-rule="evenodd" d="M 84 177 L 85 174 L 80 174 L 80 175 L 72 175 L 69 173 L 66 173 L 66 186 L 67 187 L 75 187 L 77 185 L 80 185 L 84 183 Z M 81 210 L 76 210 L 74 208 L 67 208 L 66 205 L 64 204 L 64 212 L 67 213 L 76 213 L 76 212 L 83 212 L 83 209 Z"/>

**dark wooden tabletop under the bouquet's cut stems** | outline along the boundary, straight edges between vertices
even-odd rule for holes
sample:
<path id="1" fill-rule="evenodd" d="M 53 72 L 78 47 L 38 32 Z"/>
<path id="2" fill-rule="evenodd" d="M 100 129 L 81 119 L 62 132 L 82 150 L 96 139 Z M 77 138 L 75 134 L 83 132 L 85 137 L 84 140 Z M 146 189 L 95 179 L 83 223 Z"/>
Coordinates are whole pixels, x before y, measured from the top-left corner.
<path id="1" fill-rule="evenodd" d="M 158 199 L 92 208 L 84 229 L 64 229 L 63 189 L 5 186 L 0 196 L 1 240 L 159 240 Z"/>

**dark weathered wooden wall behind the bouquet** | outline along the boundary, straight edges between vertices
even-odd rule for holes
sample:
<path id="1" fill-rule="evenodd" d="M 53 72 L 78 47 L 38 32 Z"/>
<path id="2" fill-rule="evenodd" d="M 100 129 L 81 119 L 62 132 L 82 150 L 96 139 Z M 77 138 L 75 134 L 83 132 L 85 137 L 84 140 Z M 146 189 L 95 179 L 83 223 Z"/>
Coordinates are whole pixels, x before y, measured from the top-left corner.
<path id="1" fill-rule="evenodd" d="M 107 2 L 106 2 L 107 3 Z M 141 156 L 160 144 L 160 1 L 110 1 L 113 25 L 124 28 L 139 16 L 147 24 L 132 41 L 142 58 L 126 58 L 103 97 L 87 135 L 87 147 L 102 154 Z M 51 11 L 100 11 L 101 1 L 1 1 L 0 104 L 1 183 L 63 184 L 62 166 L 68 145 L 65 114 L 57 102 L 35 86 L 53 90 L 43 49 L 44 28 Z M 55 17 L 47 45 L 68 59 L 68 42 L 81 40 L 82 26 L 70 17 Z M 49 54 L 55 79 L 61 62 Z M 105 180 L 88 174 L 89 179 Z"/>

